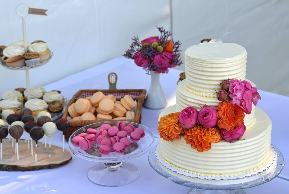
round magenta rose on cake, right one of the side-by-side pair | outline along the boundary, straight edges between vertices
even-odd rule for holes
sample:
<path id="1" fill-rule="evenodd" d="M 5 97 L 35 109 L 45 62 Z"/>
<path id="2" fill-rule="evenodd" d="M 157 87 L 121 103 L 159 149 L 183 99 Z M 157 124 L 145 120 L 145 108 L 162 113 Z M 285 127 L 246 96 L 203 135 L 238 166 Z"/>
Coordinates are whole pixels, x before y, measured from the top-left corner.
<path id="1" fill-rule="evenodd" d="M 204 128 L 212 128 L 217 125 L 217 110 L 214 106 L 205 106 L 198 114 L 198 123 Z"/>

